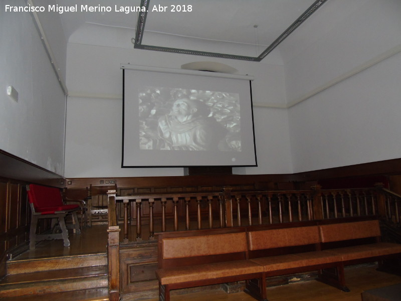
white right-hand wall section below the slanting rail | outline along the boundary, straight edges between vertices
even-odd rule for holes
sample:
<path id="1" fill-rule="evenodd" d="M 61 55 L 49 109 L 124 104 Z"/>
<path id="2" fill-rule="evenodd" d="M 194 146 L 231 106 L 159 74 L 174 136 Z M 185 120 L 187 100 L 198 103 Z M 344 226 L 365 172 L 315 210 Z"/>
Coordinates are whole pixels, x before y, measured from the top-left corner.
<path id="1" fill-rule="evenodd" d="M 289 110 L 294 172 L 400 158 L 401 53 Z"/>

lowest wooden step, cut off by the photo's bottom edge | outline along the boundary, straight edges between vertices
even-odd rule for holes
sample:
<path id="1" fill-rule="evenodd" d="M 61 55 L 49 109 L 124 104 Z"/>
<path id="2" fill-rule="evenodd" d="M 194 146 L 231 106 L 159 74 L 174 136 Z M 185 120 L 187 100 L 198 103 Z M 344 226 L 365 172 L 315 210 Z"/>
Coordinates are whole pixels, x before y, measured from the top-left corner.
<path id="1" fill-rule="evenodd" d="M 44 293 L 41 295 L 23 295 L 16 297 L 0 297 L 1 301 L 108 301 L 108 289 L 91 288 L 72 291 Z"/>

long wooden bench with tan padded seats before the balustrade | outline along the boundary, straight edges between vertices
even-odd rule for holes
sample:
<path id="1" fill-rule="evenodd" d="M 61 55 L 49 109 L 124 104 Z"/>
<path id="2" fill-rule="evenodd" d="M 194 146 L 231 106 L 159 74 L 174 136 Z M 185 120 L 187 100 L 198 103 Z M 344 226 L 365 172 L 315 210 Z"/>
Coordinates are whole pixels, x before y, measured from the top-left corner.
<path id="1" fill-rule="evenodd" d="M 401 258 L 401 245 L 380 242 L 378 220 L 310 221 L 158 235 L 160 300 L 170 290 L 246 280 L 267 300 L 266 277 L 318 271 L 317 280 L 349 291 L 344 266 Z M 392 265 L 392 261 L 390 261 Z"/>

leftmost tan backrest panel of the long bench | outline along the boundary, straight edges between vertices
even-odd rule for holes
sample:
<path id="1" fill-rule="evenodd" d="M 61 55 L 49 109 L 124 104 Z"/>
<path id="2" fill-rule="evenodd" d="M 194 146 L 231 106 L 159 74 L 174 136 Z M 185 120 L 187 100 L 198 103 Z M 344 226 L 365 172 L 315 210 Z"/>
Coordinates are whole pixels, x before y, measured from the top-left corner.
<path id="1" fill-rule="evenodd" d="M 163 237 L 159 235 L 159 267 L 245 259 L 245 231 Z M 171 236 L 171 235 L 170 235 Z"/>

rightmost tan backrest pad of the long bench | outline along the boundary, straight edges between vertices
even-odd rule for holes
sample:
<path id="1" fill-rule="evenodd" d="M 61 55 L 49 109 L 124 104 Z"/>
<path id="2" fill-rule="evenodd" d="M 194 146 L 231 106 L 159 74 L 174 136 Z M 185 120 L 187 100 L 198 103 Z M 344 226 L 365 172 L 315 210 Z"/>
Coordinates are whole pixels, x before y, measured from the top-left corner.
<path id="1" fill-rule="evenodd" d="M 379 237 L 378 220 L 319 225 L 322 243 Z"/>

